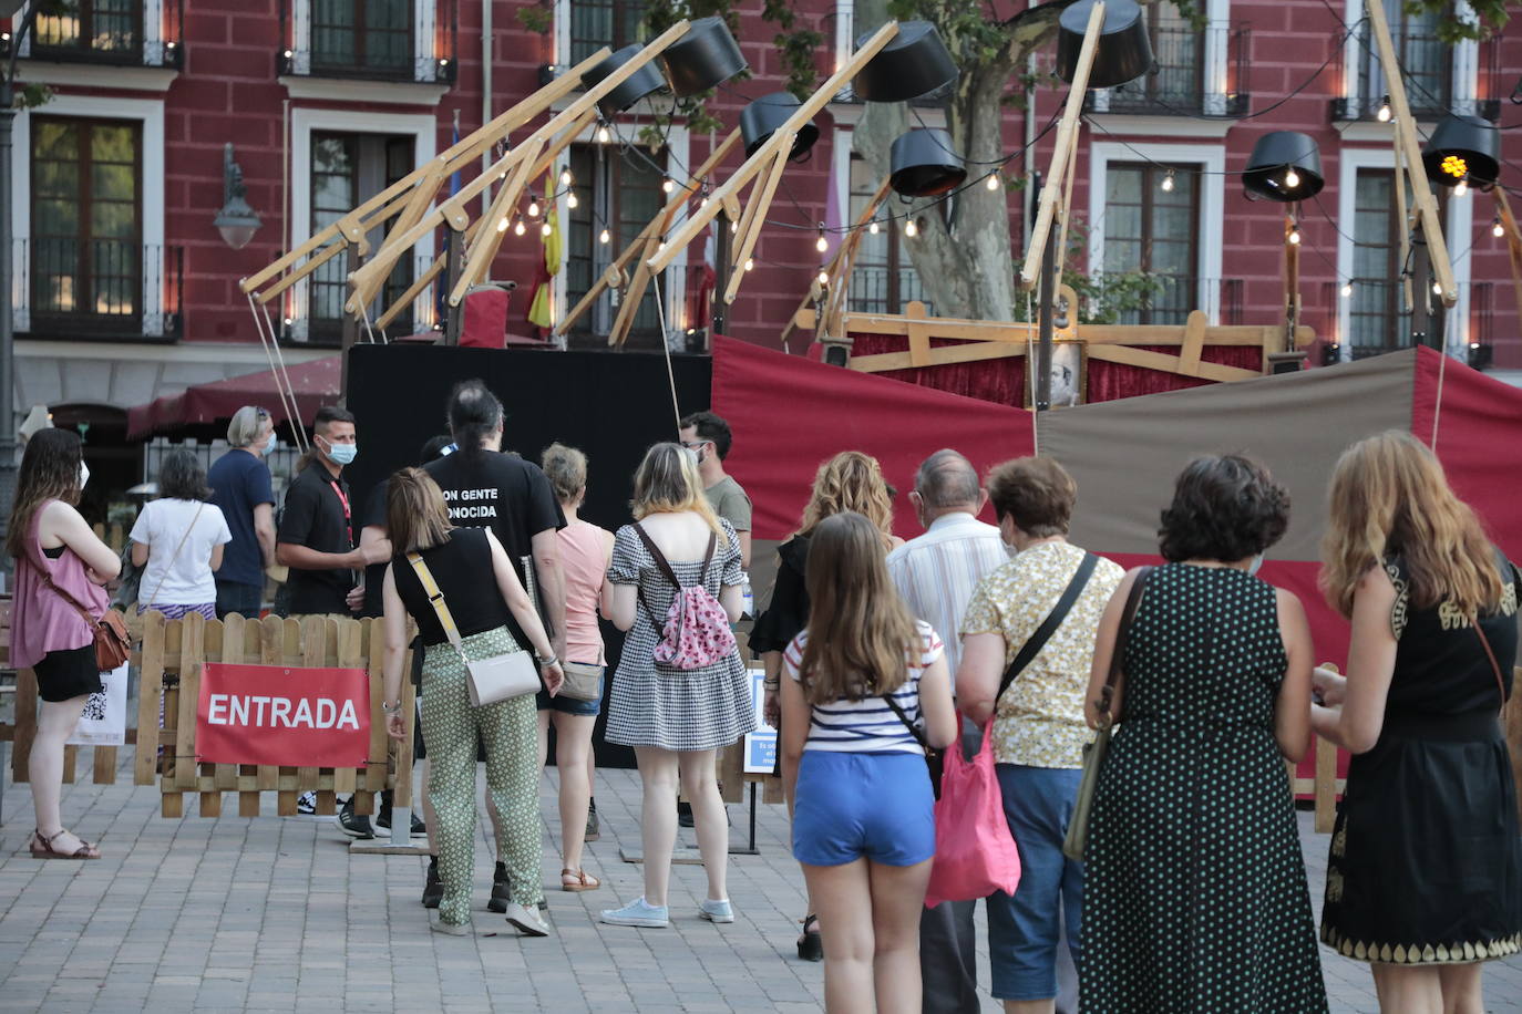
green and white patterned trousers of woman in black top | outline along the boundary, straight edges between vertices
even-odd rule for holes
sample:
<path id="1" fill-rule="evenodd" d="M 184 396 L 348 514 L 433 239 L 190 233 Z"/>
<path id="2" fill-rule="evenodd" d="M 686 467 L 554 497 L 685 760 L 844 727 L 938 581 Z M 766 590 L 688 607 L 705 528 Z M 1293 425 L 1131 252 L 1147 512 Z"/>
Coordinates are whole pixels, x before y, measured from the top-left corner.
<path id="1" fill-rule="evenodd" d="M 516 648 L 505 626 L 463 642 L 469 658 Z M 438 918 L 470 921 L 475 870 L 476 734 L 486 743 L 486 786 L 502 818 L 502 854 L 513 900 L 534 908 L 543 897 L 539 824 L 539 719 L 534 695 L 470 707 L 466 666 L 449 646 L 429 648 L 423 660 L 423 739 L 428 742 L 428 798 L 438 818 L 438 879 L 444 898 Z"/>

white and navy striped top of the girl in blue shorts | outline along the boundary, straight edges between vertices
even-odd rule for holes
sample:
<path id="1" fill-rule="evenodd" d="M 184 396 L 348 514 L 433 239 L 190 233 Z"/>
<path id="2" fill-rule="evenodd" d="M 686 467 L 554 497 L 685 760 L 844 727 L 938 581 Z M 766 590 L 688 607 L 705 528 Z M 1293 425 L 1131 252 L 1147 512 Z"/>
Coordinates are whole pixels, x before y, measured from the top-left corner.
<path id="1" fill-rule="evenodd" d="M 919 629 L 918 655 L 906 658 L 909 670 L 904 683 L 893 690 L 893 704 L 900 707 L 913 724 L 919 724 L 919 677 L 925 669 L 941 658 L 945 648 L 930 625 L 916 620 Z M 804 663 L 804 646 L 808 643 L 808 631 L 801 631 L 798 637 L 782 652 L 782 669 L 791 680 L 799 680 L 799 667 Z M 863 698 L 860 701 L 831 701 L 829 704 L 813 705 L 813 716 L 808 724 L 808 742 L 804 749 L 823 749 L 846 754 L 918 754 L 922 746 L 904 725 L 904 719 L 893 713 L 881 696 Z"/>

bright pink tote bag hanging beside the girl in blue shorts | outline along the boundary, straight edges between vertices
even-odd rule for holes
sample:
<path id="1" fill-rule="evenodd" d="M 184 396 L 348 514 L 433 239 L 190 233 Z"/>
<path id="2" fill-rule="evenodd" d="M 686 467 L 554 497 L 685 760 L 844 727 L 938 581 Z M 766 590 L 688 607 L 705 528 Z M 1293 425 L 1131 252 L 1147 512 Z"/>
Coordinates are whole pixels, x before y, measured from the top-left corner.
<path id="1" fill-rule="evenodd" d="M 963 760 L 959 745 L 945 753 L 936 800 L 936 862 L 925 888 L 930 908 L 986 898 L 995 891 L 1014 894 L 1020 885 L 1020 853 L 994 775 L 992 731 L 992 722 L 983 727 L 983 746 L 973 760 Z"/>

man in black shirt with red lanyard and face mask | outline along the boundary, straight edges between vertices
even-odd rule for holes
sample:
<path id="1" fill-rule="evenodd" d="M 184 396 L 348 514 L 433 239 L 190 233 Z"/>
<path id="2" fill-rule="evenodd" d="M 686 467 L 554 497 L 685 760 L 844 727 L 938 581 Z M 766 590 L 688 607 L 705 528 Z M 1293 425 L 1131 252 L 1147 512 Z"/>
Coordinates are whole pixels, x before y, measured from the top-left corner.
<path id="1" fill-rule="evenodd" d="M 355 541 L 344 465 L 358 453 L 355 417 L 321 407 L 306 465 L 286 490 L 275 561 L 289 569 L 291 616 L 350 616 L 349 593 L 365 553 Z"/>

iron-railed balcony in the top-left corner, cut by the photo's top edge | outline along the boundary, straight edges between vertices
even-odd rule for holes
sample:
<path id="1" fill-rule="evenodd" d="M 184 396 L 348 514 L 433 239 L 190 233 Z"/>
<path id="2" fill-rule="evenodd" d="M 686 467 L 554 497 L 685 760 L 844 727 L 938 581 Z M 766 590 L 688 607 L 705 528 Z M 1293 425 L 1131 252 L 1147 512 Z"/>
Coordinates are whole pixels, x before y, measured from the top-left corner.
<path id="1" fill-rule="evenodd" d="M 18 17 L 26 14 L 23 8 Z M 37 12 L 17 56 L 178 70 L 184 67 L 183 26 L 184 0 L 53 0 Z M 0 58 L 11 55 L 11 32 L 0 33 Z"/>

